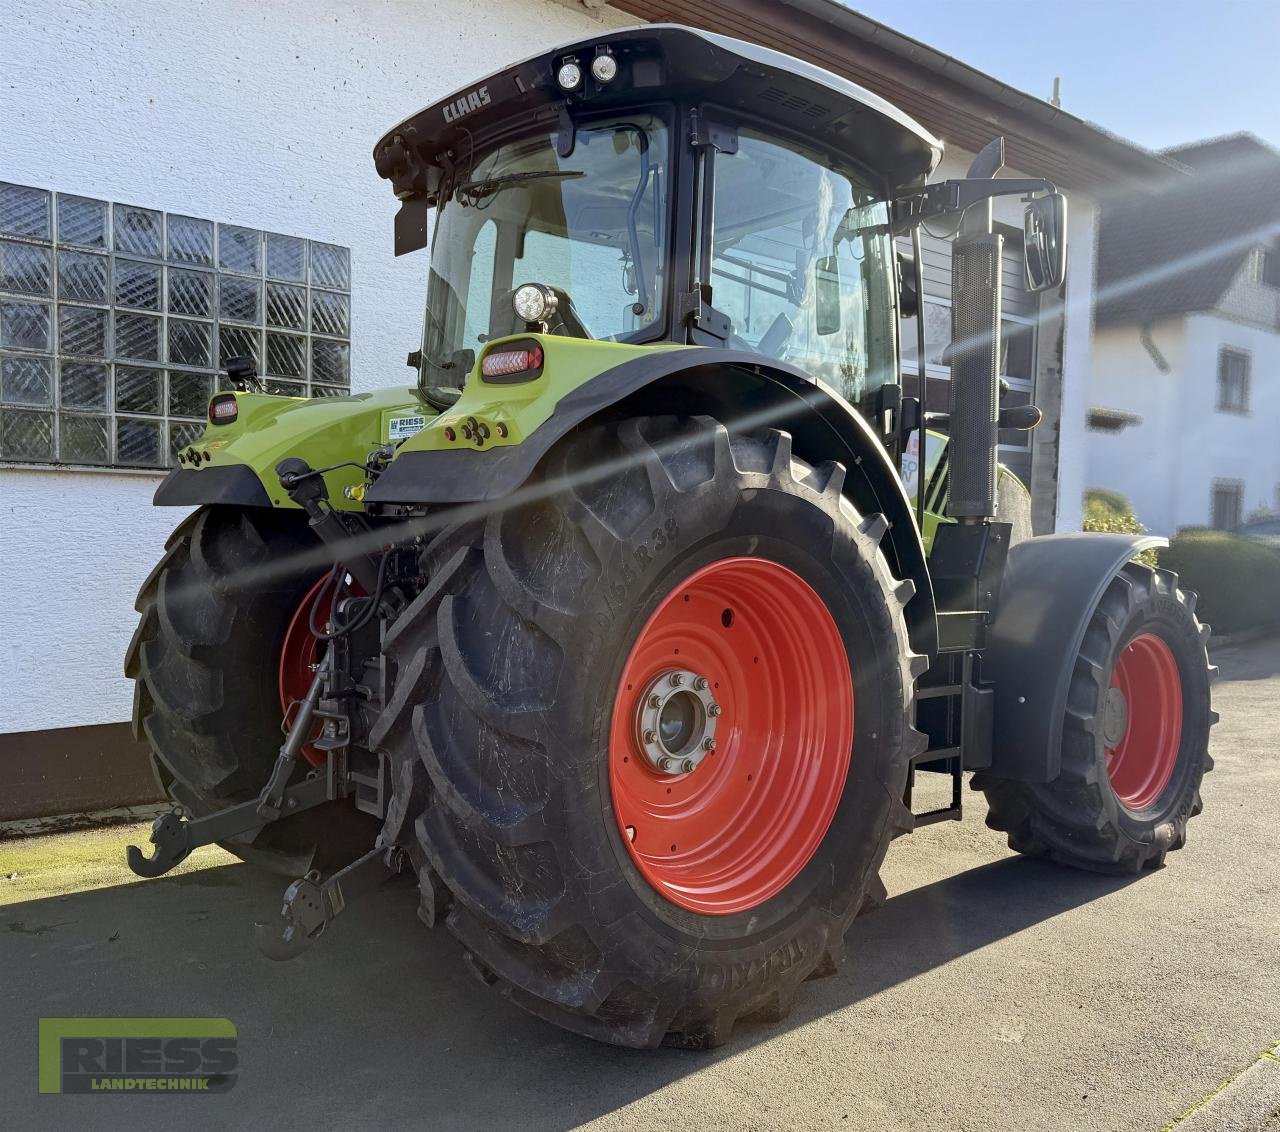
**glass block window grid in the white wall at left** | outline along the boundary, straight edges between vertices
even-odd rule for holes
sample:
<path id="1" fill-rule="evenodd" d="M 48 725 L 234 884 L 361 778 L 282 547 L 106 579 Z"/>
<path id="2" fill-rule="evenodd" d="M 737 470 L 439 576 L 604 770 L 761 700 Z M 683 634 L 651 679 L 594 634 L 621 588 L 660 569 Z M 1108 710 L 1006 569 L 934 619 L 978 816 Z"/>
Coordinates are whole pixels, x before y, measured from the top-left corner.
<path id="1" fill-rule="evenodd" d="M 349 392 L 349 250 L 0 182 L 0 462 L 168 467 L 238 355 Z"/>

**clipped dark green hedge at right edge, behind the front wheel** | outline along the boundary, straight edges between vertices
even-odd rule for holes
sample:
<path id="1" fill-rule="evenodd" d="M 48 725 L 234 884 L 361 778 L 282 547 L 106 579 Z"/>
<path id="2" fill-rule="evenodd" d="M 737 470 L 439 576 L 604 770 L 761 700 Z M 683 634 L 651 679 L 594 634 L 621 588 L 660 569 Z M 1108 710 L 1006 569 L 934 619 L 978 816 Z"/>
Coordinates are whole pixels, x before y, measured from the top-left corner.
<path id="1" fill-rule="evenodd" d="M 1199 594 L 1196 613 L 1213 633 L 1280 626 L 1280 554 L 1221 530 L 1181 530 L 1160 552 L 1183 589 Z"/>

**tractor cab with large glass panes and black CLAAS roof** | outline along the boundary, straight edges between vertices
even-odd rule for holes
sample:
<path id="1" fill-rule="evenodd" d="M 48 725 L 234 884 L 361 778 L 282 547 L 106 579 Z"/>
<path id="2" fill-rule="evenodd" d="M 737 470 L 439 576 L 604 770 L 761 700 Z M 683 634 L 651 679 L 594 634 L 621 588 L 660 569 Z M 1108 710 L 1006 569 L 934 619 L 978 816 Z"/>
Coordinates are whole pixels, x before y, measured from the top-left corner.
<path id="1" fill-rule="evenodd" d="M 434 210 L 422 388 L 447 402 L 486 343 L 545 329 L 723 346 L 869 405 L 897 374 L 891 201 L 940 155 L 854 83 L 689 28 L 516 64 L 375 150 L 397 254 Z"/>

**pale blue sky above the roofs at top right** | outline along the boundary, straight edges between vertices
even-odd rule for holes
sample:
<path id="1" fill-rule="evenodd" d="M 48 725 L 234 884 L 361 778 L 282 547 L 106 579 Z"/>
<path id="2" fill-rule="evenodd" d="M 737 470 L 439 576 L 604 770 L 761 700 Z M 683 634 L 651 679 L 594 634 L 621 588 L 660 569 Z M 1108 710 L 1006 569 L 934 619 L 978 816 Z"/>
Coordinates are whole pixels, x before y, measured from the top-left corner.
<path id="1" fill-rule="evenodd" d="M 1280 0 L 844 0 L 1010 86 L 1165 149 L 1248 131 L 1280 149 Z"/>

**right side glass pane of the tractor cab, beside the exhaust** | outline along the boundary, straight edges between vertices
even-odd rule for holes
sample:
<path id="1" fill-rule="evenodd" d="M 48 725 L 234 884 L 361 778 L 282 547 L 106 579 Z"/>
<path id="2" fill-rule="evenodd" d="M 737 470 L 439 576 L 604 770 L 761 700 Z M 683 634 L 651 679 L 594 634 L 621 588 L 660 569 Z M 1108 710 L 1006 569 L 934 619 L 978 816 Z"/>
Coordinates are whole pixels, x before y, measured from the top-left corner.
<path id="1" fill-rule="evenodd" d="M 717 154 L 712 303 L 728 344 L 865 401 L 897 380 L 888 205 L 869 181 L 744 129 Z"/>

